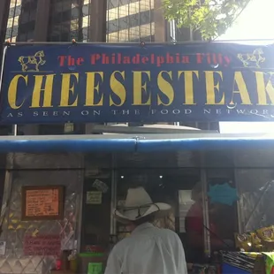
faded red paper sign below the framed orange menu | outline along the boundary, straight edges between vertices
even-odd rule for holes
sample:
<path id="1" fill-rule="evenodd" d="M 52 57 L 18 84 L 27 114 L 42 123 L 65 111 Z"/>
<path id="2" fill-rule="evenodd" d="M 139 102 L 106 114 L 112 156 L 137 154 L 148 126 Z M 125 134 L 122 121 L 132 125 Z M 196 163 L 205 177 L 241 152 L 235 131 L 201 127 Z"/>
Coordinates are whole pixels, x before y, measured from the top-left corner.
<path id="1" fill-rule="evenodd" d="M 59 235 L 26 235 L 24 238 L 24 255 L 55 255 L 61 253 Z"/>

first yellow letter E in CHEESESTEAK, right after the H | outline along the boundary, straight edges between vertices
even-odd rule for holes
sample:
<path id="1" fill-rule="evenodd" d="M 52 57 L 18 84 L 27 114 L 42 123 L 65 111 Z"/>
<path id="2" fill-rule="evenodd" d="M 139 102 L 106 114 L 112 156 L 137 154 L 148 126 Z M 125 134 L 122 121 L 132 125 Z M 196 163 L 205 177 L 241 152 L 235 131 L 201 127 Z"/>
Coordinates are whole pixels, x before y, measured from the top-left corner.
<path id="1" fill-rule="evenodd" d="M 70 95 L 74 94 L 74 83 L 71 86 L 71 78 L 75 78 L 76 82 L 78 83 L 79 80 L 79 73 L 61 73 L 62 75 L 62 83 L 61 83 L 61 99 L 59 107 L 77 107 L 78 103 L 78 95 L 76 96 L 74 102 L 69 104 L 70 102 Z"/>

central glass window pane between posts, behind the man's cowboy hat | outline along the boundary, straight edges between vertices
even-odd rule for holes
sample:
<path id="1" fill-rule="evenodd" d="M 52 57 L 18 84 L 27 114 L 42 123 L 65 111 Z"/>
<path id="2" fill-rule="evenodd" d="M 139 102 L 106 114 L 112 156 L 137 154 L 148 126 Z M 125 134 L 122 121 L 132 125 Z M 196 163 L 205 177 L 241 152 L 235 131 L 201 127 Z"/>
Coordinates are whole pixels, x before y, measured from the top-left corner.
<path id="1" fill-rule="evenodd" d="M 136 186 L 143 186 L 153 202 L 171 204 L 170 213 L 156 219 L 154 225 L 177 232 L 185 247 L 186 260 L 201 263 L 204 251 L 203 209 L 194 194 L 201 186 L 200 154 L 193 151 L 127 155 L 118 157 L 116 170 L 118 207 L 123 207 L 127 189 Z M 195 225 L 196 216 L 191 215 L 196 215 L 197 210 L 198 221 L 201 221 L 198 222 L 201 245 L 194 249 L 194 241 L 190 242 L 188 238 L 192 225 Z M 115 230 L 117 240 L 129 236 L 126 225 L 117 222 Z"/>

